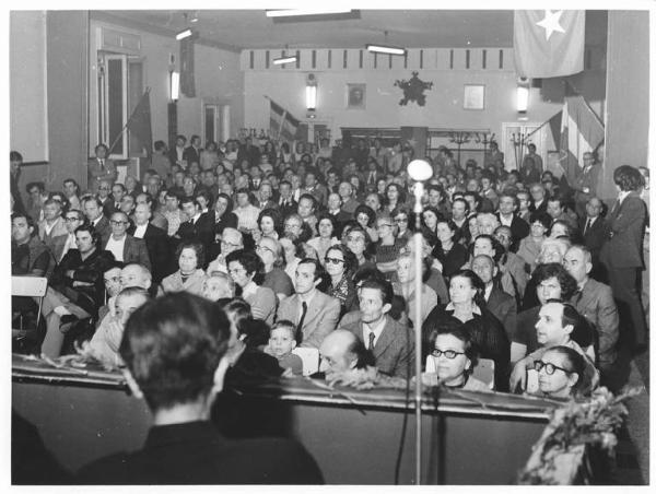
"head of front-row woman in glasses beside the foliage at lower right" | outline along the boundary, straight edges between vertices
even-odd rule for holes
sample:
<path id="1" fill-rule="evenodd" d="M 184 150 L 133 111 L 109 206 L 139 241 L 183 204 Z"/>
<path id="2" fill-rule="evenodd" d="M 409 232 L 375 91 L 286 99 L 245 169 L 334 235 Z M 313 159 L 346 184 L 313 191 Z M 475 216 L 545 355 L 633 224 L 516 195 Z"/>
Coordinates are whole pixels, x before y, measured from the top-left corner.
<path id="1" fill-rule="evenodd" d="M 567 346 L 553 346 L 534 362 L 538 373 L 541 395 L 551 398 L 570 398 L 589 393 L 585 378 L 585 360 Z"/>

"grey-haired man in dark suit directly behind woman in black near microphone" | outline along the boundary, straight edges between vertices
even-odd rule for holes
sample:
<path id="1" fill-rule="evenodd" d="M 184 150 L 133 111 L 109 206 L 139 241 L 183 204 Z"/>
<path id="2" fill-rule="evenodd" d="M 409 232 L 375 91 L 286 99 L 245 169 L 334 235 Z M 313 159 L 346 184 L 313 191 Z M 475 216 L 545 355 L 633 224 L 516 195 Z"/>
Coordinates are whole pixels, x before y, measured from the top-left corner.
<path id="1" fill-rule="evenodd" d="M 515 297 L 494 286 L 494 278 L 499 268 L 494 260 L 485 255 L 479 255 L 471 261 L 471 270 L 478 274 L 485 285 L 485 306 L 503 325 L 508 340 L 515 334 L 517 326 L 517 303 Z"/>

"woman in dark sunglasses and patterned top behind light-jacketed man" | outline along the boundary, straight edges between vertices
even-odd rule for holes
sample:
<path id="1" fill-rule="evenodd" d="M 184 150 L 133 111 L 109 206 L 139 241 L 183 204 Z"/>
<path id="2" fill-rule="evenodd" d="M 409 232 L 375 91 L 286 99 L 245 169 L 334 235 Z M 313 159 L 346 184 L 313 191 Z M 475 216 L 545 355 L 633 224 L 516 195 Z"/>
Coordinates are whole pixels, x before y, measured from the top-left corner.
<path id="1" fill-rule="evenodd" d="M 324 258 L 326 271 L 330 275 L 330 286 L 326 293 L 337 298 L 341 305 L 340 317 L 358 308 L 353 273 L 358 259 L 348 247 L 337 244 L 328 248 Z"/>

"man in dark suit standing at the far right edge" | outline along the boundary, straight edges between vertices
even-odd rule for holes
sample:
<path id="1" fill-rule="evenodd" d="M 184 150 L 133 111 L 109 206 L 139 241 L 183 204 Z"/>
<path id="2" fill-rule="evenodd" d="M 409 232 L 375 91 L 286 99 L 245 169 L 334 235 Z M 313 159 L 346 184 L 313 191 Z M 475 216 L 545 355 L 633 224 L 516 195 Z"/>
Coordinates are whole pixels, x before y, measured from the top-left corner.
<path id="1" fill-rule="evenodd" d="M 636 351 L 647 344 L 647 327 L 641 303 L 639 280 L 644 269 L 642 258 L 647 208 L 640 198 L 639 189 L 644 178 L 637 168 L 622 165 L 613 172 L 619 195 L 608 216 L 609 239 L 601 247 L 599 258 L 608 270 L 610 287 L 620 311 L 625 331 L 633 329 Z"/>

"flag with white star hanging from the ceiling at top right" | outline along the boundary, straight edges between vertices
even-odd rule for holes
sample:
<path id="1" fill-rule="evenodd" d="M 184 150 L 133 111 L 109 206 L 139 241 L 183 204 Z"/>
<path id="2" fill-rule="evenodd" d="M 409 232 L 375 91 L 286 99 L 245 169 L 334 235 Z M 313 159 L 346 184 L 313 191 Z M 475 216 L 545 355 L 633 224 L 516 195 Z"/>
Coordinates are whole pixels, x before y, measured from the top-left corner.
<path id="1" fill-rule="evenodd" d="M 523 78 L 555 78 L 583 70 L 585 11 L 516 10 L 515 70 Z"/>

